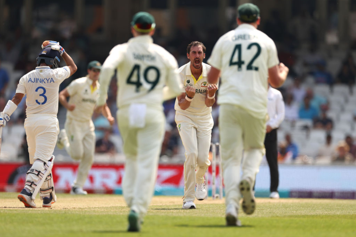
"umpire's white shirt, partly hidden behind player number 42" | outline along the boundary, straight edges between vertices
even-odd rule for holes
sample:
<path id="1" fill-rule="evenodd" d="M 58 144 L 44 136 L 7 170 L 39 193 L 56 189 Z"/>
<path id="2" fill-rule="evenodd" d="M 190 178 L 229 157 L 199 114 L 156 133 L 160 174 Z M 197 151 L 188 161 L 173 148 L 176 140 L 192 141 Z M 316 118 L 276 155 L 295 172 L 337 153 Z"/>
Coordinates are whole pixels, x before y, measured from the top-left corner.
<path id="1" fill-rule="evenodd" d="M 276 129 L 284 119 L 284 102 L 282 93 L 271 86 L 268 88 L 267 112 L 269 120 L 266 125 Z"/>

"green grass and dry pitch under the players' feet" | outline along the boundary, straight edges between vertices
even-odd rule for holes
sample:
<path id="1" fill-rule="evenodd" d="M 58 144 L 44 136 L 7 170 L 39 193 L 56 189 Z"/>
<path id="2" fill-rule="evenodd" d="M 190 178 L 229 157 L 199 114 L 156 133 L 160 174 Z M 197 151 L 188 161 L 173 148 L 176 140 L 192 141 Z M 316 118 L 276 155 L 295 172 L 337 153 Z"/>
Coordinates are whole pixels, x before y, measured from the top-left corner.
<path id="1" fill-rule="evenodd" d="M 121 195 L 57 194 L 52 208 L 24 208 L 17 193 L 0 193 L 0 236 L 356 236 L 356 200 L 258 198 L 254 214 L 240 211 L 242 227 L 226 227 L 224 200 L 155 196 L 140 233 L 127 233 Z M 42 206 L 39 196 L 37 206 Z"/>

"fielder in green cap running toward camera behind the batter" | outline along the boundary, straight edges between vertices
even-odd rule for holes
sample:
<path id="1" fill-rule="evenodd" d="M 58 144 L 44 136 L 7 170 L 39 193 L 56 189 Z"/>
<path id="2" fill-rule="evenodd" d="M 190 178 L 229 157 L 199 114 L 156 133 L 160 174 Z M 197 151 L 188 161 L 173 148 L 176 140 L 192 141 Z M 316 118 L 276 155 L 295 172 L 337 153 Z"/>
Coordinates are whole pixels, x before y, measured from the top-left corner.
<path id="1" fill-rule="evenodd" d="M 94 162 L 95 128 L 91 117 L 96 99 L 99 97 L 100 69 L 101 64 L 98 61 L 91 61 L 88 64 L 88 75 L 72 81 L 59 93 L 59 102 L 67 109 L 67 118 L 65 129 L 59 132 L 57 147 L 59 149 L 64 147 L 73 160 L 80 161 L 70 194 L 87 194 L 83 186 Z M 106 104 L 101 113 L 108 119 L 110 125 L 114 124 L 115 119 Z"/>

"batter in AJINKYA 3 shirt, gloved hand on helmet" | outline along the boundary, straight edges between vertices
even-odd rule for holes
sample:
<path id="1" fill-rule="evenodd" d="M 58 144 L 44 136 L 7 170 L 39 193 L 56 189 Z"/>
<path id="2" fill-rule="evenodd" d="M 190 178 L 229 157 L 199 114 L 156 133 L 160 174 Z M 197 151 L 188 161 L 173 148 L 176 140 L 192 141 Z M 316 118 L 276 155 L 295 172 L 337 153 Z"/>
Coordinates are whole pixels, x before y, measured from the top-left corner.
<path id="1" fill-rule="evenodd" d="M 34 200 L 38 191 L 43 207 L 51 207 L 56 201 L 51 169 L 59 133 L 58 91 L 62 81 L 77 71 L 72 58 L 58 42 L 45 41 L 42 48 L 36 69 L 21 77 L 14 98 L 7 102 L 0 115 L 0 126 L 4 126 L 22 97 L 27 95 L 24 127 L 32 167 L 27 171 L 25 188 L 17 196 L 27 208 L 36 208 Z M 67 66 L 58 68 L 61 56 Z"/>

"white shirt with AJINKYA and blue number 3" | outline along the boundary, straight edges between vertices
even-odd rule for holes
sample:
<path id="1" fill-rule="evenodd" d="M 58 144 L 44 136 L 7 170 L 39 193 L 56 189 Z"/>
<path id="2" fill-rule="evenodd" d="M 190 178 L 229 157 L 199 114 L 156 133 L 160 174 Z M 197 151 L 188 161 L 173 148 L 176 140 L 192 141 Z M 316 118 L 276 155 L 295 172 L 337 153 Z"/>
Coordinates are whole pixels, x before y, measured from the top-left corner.
<path id="1" fill-rule="evenodd" d="M 68 66 L 56 69 L 40 66 L 22 76 L 16 93 L 27 95 L 26 115 L 52 114 L 57 116 L 59 85 L 69 76 Z"/>

